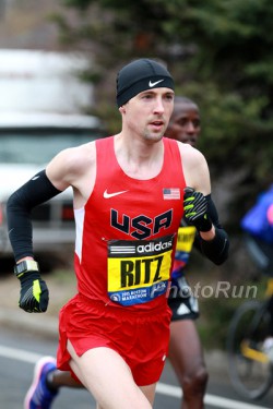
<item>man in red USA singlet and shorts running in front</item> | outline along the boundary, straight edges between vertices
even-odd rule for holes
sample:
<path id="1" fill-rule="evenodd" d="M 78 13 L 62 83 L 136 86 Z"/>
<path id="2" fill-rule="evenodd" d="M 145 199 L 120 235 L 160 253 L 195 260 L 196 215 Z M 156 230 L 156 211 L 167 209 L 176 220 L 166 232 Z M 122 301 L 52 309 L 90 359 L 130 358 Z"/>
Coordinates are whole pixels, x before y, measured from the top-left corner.
<path id="1" fill-rule="evenodd" d="M 120 133 L 61 152 L 11 195 L 9 231 L 20 306 L 45 312 L 48 289 L 34 261 L 31 210 L 73 188 L 79 293 L 60 312 L 57 365 L 99 409 L 145 409 L 168 349 L 167 291 L 180 219 L 185 214 L 195 226 L 209 257 L 227 238 L 207 215 L 203 155 L 163 137 L 174 107 L 165 67 L 149 59 L 123 67 L 117 104 Z M 38 399 L 28 394 L 25 407 L 50 407 Z"/>

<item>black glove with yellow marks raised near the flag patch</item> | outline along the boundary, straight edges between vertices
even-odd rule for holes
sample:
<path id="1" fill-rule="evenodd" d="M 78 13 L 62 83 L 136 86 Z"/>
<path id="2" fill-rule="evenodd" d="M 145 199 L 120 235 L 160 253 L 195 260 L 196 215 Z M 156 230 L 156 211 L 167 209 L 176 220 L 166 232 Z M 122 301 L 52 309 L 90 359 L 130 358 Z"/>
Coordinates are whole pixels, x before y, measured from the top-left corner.
<path id="1" fill-rule="evenodd" d="M 189 225 L 193 225 L 198 231 L 210 231 L 212 221 L 206 213 L 207 203 L 204 195 L 192 188 L 185 188 L 183 192 L 183 210 Z"/>

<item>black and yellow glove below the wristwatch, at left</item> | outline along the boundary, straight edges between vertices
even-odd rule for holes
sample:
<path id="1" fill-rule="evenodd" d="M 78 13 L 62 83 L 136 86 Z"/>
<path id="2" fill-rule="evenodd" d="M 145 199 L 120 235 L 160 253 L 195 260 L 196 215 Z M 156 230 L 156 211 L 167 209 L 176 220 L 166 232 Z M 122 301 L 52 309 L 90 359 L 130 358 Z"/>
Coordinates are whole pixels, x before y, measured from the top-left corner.
<path id="1" fill-rule="evenodd" d="M 21 282 L 19 306 L 26 312 L 47 311 L 49 294 L 39 272 L 25 272 L 19 279 Z"/>

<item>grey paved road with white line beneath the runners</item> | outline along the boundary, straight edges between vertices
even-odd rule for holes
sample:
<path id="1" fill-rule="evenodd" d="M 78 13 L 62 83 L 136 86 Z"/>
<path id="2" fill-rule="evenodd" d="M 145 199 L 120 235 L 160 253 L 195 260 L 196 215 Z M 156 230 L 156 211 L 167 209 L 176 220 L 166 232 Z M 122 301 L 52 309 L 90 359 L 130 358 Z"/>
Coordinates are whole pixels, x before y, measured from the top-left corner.
<path id="1" fill-rule="evenodd" d="M 33 368 L 41 354 L 55 354 L 57 337 L 45 337 L 34 332 L 25 334 L 20 328 L 1 326 L 0 332 L 0 408 L 22 409 Z M 213 370 L 205 397 L 206 409 L 261 409 L 272 408 L 273 395 L 258 404 L 242 404 L 230 387 L 225 373 Z M 180 389 L 168 362 L 158 383 L 154 409 L 178 409 Z M 95 409 L 94 399 L 86 390 L 63 388 L 54 408 Z"/>

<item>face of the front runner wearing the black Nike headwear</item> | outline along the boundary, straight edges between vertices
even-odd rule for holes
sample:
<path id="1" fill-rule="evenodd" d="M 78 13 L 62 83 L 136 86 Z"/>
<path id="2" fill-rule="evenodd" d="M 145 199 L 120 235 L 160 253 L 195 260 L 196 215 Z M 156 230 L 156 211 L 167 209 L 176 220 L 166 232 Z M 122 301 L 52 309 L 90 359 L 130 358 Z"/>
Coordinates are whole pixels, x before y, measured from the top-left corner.
<path id="1" fill-rule="evenodd" d="M 130 131 L 145 141 L 161 141 L 174 109 L 170 88 L 144 91 L 124 106 L 126 123 Z"/>

